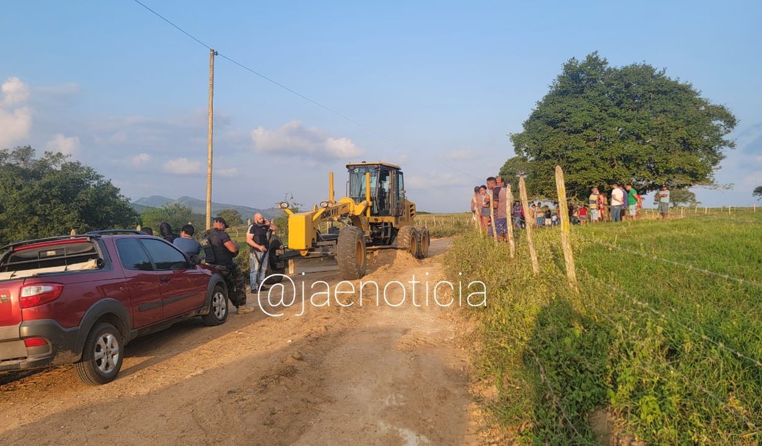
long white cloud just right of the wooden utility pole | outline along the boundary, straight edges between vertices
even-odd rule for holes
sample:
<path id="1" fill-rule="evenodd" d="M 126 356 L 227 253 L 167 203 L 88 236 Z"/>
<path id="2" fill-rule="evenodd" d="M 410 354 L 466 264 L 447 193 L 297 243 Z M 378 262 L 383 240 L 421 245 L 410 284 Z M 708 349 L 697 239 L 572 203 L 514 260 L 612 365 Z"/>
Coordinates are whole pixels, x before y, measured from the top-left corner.
<path id="1" fill-rule="evenodd" d="M 251 132 L 255 151 L 277 155 L 299 155 L 317 161 L 344 160 L 363 155 L 364 151 L 348 138 L 334 138 L 299 121 L 291 121 L 276 130 L 257 127 Z"/>

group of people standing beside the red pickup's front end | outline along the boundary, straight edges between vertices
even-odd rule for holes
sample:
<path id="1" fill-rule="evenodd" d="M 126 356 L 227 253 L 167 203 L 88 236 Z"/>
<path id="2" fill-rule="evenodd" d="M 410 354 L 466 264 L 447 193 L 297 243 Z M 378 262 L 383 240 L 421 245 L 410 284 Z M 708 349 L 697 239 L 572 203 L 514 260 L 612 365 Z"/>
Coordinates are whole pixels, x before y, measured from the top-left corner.
<path id="1" fill-rule="evenodd" d="M 215 217 L 212 220 L 212 228 L 203 234 L 200 242 L 194 238 L 196 230 L 190 224 L 184 225 L 180 234 L 174 234 L 171 225 L 164 222 L 159 225 L 159 234 L 160 237 L 174 244 L 175 247 L 187 253 L 191 258 L 197 256 L 200 260 L 201 247 L 203 247 L 206 263 L 214 266 L 225 279 L 228 297 L 235 306 L 236 312 L 238 314 L 251 313 L 254 310 L 246 306 L 245 278 L 233 260 L 235 256 L 238 256 L 240 247 L 226 232 L 228 228 L 230 226 L 225 218 Z M 142 231 L 153 235 L 152 228 L 142 228 Z M 254 215 L 254 221 L 246 230 L 246 244 L 250 249 L 249 266 L 251 272 L 249 282 L 251 292 L 267 290 L 264 281 L 267 279 L 270 236 L 274 231 L 277 231 L 277 226 L 264 218 L 260 212 Z"/>

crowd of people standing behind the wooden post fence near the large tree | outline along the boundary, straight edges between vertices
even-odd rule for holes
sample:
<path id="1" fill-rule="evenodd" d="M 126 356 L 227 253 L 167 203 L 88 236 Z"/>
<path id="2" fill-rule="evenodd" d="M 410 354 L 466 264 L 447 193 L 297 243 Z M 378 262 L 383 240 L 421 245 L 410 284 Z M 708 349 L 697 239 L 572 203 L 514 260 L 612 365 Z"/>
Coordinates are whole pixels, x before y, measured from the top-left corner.
<path id="1" fill-rule="evenodd" d="M 527 222 L 538 227 L 561 223 L 558 213 L 553 212 L 549 206 L 543 207 L 541 202 L 530 205 L 529 215 L 525 215 L 523 206 L 518 200 L 514 201 L 509 208 L 506 199 L 507 186 L 501 177 L 488 177 L 486 184 L 474 186 L 471 212 L 479 227 L 490 236 L 493 235 L 493 230 L 497 232 L 498 238 L 507 236 L 507 212 L 511 212 L 511 220 L 517 229 L 525 228 Z M 661 186 L 661 190 L 656 193 L 656 199 L 659 215 L 661 218 L 667 218 L 670 193 L 666 185 Z M 569 221 L 572 224 L 609 219 L 610 221 L 624 221 L 628 218 L 636 220 L 640 209 L 642 209 L 642 196 L 630 183 L 626 183 L 623 187 L 613 183 L 610 196 L 600 193 L 597 187 L 593 187 L 587 204 L 568 203 Z"/>

